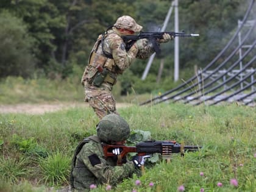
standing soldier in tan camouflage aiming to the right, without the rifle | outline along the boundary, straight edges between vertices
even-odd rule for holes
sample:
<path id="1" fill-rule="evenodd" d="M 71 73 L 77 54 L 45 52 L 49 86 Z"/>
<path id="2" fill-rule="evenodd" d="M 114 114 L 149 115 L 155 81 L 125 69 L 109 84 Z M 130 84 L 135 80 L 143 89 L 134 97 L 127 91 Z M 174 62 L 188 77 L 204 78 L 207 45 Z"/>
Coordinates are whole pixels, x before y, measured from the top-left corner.
<path id="1" fill-rule="evenodd" d="M 126 44 L 121 36 L 133 35 L 141 29 L 142 26 L 132 17 L 121 16 L 111 29 L 99 35 L 93 46 L 81 82 L 85 88 L 85 102 L 89 102 L 100 119 L 109 113 L 118 114 L 112 94 L 118 74 L 129 68 L 135 58 L 146 59 L 154 52 L 147 39 L 137 40 L 126 51 Z M 172 38 L 169 34 L 164 34 L 158 43 L 165 43 Z"/>

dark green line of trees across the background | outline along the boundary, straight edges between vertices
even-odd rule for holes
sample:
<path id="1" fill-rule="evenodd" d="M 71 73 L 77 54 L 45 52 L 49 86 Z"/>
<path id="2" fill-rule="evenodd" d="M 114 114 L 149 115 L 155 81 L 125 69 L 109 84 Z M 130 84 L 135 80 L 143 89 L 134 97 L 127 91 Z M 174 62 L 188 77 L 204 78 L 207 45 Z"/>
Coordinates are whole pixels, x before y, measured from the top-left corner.
<path id="1" fill-rule="evenodd" d="M 1 0 L 0 78 L 35 73 L 65 78 L 73 73 L 74 65 L 84 69 L 94 41 L 119 16 L 132 16 L 144 31 L 158 30 L 171 2 Z M 180 69 L 191 71 L 194 65 L 207 65 L 229 40 L 246 8 L 239 0 L 180 0 L 179 28 L 201 35 L 180 40 Z M 174 12 L 166 30 L 174 30 Z M 162 46 L 162 55 L 149 71 L 152 77 L 157 76 L 161 58 L 168 63 L 162 76 L 172 75 L 173 49 L 173 42 Z M 136 60 L 126 76 L 140 77 L 145 66 L 145 60 Z"/>

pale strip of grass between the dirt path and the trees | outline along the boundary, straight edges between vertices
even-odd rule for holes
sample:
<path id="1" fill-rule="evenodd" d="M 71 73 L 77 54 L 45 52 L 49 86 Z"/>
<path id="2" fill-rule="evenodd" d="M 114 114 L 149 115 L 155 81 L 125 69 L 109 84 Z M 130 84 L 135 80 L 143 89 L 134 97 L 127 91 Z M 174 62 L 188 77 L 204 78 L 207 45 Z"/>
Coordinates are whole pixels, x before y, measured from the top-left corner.
<path id="1" fill-rule="evenodd" d="M 7 77 L 0 80 L 0 104 L 45 103 L 45 102 L 83 102 L 84 88 L 80 77 L 69 77 L 65 80 L 46 78 L 23 79 Z M 133 91 L 120 96 L 121 85 L 113 87 L 113 95 L 118 102 L 138 104 L 149 98 L 148 94 L 138 95 Z"/>

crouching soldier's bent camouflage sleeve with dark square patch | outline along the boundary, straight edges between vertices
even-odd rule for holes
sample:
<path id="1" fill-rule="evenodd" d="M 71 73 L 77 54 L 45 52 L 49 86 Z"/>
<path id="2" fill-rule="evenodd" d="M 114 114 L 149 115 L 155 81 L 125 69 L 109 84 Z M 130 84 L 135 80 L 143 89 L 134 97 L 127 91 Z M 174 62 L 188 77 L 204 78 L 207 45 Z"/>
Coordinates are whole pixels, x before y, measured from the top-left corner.
<path id="1" fill-rule="evenodd" d="M 99 151 L 97 144 L 88 143 L 84 145 L 77 155 L 100 182 L 116 185 L 124 178 L 131 176 L 135 171 L 135 166 L 132 162 L 124 163 L 122 166 L 108 165 L 102 154 L 103 152 Z"/>

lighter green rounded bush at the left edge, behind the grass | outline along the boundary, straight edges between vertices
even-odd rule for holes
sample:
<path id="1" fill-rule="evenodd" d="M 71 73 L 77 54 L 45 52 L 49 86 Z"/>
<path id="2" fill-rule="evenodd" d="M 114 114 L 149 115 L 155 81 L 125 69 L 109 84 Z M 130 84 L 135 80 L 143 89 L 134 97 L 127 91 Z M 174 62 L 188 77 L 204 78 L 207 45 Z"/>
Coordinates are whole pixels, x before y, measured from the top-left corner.
<path id="1" fill-rule="evenodd" d="M 34 39 L 23 22 L 7 11 L 0 13 L 0 26 L 0 77 L 28 77 L 35 64 L 30 51 Z"/>

